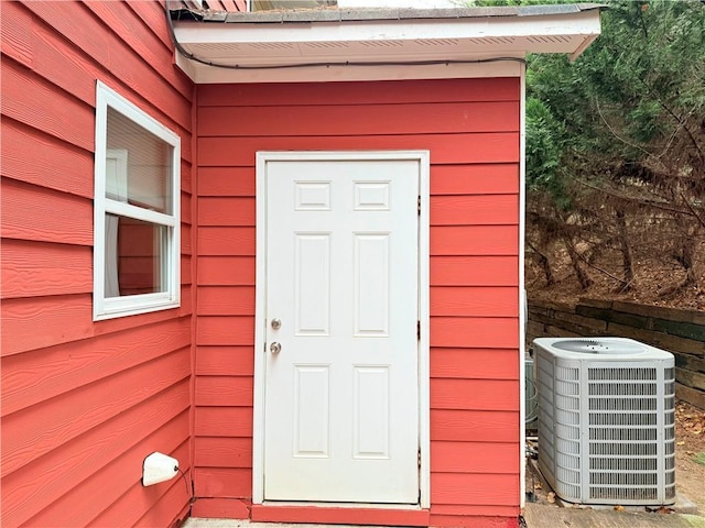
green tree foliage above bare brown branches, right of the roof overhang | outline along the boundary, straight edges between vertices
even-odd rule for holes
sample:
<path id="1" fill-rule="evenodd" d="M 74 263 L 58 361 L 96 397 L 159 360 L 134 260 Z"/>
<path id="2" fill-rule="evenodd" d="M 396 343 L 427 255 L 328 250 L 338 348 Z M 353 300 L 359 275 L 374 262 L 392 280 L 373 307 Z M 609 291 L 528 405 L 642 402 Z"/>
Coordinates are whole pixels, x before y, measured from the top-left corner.
<path id="1" fill-rule="evenodd" d="M 529 58 L 528 99 L 540 100 L 545 111 L 541 119 L 528 118 L 528 129 L 539 129 L 527 131 L 527 151 L 546 151 L 549 123 L 561 161 L 551 177 L 545 163 L 530 161 L 528 172 L 536 174 L 528 178 L 556 199 L 556 189 L 566 188 L 556 178 L 594 178 L 596 169 L 604 175 L 606 166 L 625 163 L 668 170 L 670 154 L 682 154 L 670 152 L 674 139 L 692 135 L 705 116 L 705 6 L 696 0 L 608 6 L 603 34 L 576 63 L 556 55 Z M 686 140 L 696 151 L 703 146 Z"/>

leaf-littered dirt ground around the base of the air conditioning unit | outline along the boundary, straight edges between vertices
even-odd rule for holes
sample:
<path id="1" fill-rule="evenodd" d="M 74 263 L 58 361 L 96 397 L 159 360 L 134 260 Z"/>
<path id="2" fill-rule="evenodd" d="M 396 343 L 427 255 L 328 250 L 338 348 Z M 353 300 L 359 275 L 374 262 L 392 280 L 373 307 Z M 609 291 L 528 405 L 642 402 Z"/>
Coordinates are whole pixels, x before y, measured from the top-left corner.
<path id="1" fill-rule="evenodd" d="M 531 442 L 530 442 L 531 446 Z M 560 507 L 555 494 L 527 468 L 527 502 Z M 705 410 L 679 402 L 675 406 L 675 488 L 705 517 Z M 533 493 L 532 493 L 533 492 Z M 619 510 L 620 506 L 615 506 Z M 621 508 L 623 509 L 623 508 Z M 654 513 L 669 514 L 670 508 Z"/>

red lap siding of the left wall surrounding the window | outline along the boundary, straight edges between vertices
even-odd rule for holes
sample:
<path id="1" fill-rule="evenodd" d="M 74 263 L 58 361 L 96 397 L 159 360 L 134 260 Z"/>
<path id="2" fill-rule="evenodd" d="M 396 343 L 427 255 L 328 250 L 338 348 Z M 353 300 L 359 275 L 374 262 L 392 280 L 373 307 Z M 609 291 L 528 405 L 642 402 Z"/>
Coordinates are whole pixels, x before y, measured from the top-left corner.
<path id="1" fill-rule="evenodd" d="M 191 466 L 191 81 L 163 4 L 3 2 L 2 526 L 171 526 Z M 182 307 L 94 322 L 96 80 L 182 139 Z M 80 505 L 77 507 L 76 505 Z"/>

